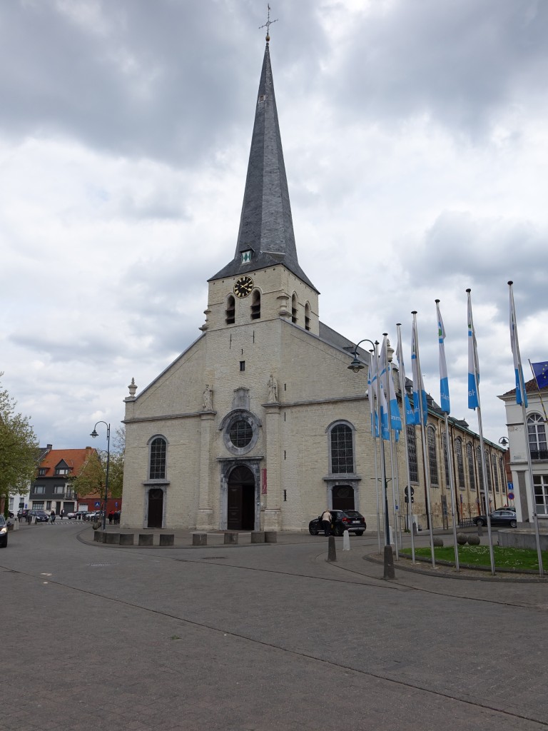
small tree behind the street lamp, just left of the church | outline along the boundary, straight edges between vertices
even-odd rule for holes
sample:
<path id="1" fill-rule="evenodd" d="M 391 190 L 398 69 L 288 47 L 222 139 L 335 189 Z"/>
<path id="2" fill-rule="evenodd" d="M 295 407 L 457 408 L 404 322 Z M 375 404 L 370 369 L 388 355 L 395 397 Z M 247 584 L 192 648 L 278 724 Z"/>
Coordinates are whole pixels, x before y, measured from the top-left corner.
<path id="1" fill-rule="evenodd" d="M 110 445 L 108 471 L 108 496 L 122 496 L 123 454 L 126 449 L 126 431 L 123 427 L 116 429 Z M 103 495 L 107 478 L 107 450 L 95 450 L 83 463 L 80 474 L 72 480 L 72 490 L 78 497 L 85 495 Z"/>

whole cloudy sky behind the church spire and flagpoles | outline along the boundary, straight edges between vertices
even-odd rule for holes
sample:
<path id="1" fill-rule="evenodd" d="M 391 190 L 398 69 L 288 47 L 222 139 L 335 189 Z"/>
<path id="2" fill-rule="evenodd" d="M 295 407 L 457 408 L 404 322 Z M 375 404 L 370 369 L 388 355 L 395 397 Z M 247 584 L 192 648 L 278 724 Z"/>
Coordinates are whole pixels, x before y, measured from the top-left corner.
<path id="1" fill-rule="evenodd" d="M 509 288 L 548 360 L 548 3 L 278 0 L 270 55 L 302 268 L 323 322 L 396 339 L 418 311 L 439 401 L 506 434 Z M 83 447 L 199 336 L 235 250 L 265 48 L 258 0 L 0 4 L 0 371 L 40 444 Z M 99 439 L 96 446 L 101 447 Z"/>

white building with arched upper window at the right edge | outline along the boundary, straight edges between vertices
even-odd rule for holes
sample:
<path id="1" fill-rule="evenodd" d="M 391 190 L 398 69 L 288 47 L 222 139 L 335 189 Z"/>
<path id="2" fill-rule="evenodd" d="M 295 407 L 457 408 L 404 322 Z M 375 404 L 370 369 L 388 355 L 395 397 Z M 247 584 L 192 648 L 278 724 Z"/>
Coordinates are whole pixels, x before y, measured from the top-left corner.
<path id="1" fill-rule="evenodd" d="M 548 387 L 539 388 L 533 378 L 525 384 L 528 406 L 525 409 L 526 425 L 523 425 L 521 404 L 516 404 L 515 388 L 499 396 L 506 406 L 508 426 L 511 482 L 514 489 L 518 520 L 533 521 L 536 512 L 541 527 L 548 528 L 548 444 L 547 415 Z M 528 454 L 533 471 L 531 491 Z M 533 501 L 534 493 L 534 501 Z"/>

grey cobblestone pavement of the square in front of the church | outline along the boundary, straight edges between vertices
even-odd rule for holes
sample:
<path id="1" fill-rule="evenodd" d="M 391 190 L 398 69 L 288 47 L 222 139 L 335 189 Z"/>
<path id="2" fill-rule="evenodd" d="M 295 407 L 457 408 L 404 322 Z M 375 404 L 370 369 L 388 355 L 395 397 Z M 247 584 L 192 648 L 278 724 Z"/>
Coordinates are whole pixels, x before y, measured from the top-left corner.
<path id="1" fill-rule="evenodd" d="M 151 549 L 58 526 L 0 550 L 0 730 L 548 727 L 547 583 L 403 560 L 387 582 L 367 534 L 332 564 L 304 534 Z"/>

